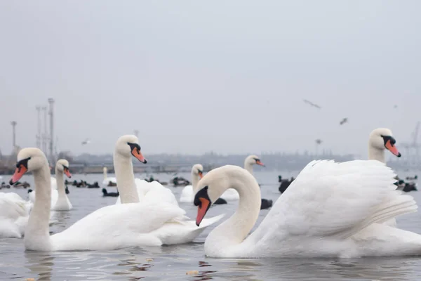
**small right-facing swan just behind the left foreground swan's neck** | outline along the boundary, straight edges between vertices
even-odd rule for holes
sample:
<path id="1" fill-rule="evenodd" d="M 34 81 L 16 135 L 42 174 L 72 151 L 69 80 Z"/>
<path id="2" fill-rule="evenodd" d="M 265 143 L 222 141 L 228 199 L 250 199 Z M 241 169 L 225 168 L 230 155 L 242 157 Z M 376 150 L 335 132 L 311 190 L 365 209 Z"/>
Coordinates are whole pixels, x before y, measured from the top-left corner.
<path id="1" fill-rule="evenodd" d="M 69 198 L 66 195 L 66 188 L 63 179 L 64 174 L 66 174 L 67 178 L 72 178 L 69 171 L 69 162 L 66 159 L 59 159 L 55 163 L 55 176 L 58 179 L 51 177 L 51 210 L 53 211 L 69 211 L 72 209 L 72 203 L 70 203 Z M 36 190 L 29 192 L 29 200 L 32 203 L 35 202 L 35 194 Z"/>

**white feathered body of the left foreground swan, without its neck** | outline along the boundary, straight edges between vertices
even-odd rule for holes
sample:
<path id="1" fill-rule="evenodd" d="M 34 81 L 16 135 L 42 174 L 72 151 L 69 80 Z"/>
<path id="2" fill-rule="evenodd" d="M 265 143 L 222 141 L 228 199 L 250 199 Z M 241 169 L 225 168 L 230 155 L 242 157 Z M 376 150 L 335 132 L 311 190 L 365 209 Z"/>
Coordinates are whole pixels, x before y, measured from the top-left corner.
<path id="1" fill-rule="evenodd" d="M 107 250 L 182 244 L 191 242 L 203 228 L 220 219 L 212 218 L 203 228 L 197 228 L 193 221 L 179 219 L 184 214 L 184 210 L 168 203 L 126 203 L 103 207 L 62 233 L 52 235 L 51 250 Z"/>

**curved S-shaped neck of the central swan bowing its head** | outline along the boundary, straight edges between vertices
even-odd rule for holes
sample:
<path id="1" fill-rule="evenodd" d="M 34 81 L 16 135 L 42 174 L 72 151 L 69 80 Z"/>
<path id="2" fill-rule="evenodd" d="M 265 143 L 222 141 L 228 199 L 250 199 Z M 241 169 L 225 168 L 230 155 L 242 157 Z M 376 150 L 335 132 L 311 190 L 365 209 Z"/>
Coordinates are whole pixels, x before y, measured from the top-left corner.
<path id="1" fill-rule="evenodd" d="M 229 177 L 232 179 L 229 188 L 239 192 L 239 207 L 208 235 L 205 242 L 208 247 L 228 249 L 241 244 L 258 220 L 261 204 L 258 182 L 251 174 L 241 177 L 231 174 Z"/>

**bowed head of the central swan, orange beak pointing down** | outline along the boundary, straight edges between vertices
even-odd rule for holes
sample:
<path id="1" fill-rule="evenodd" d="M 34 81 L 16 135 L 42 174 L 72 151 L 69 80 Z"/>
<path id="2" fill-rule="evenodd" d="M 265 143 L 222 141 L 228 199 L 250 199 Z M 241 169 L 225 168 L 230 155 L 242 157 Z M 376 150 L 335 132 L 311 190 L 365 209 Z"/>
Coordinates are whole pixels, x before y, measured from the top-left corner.
<path id="1" fill-rule="evenodd" d="M 208 172 L 197 184 L 194 195 L 194 205 L 198 207 L 196 226 L 199 226 L 210 206 L 229 188 L 244 185 L 253 181 L 258 188 L 258 182 L 246 169 L 240 166 L 225 165 Z"/>

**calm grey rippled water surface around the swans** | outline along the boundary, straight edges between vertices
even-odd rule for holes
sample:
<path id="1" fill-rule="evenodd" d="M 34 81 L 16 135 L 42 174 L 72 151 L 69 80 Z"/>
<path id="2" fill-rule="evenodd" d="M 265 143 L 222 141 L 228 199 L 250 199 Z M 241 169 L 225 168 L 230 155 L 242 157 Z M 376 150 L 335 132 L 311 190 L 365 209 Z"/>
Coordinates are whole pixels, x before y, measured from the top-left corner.
<path id="1" fill-rule="evenodd" d="M 262 184 L 262 198 L 276 200 L 278 174 L 284 177 L 298 173 L 255 172 Z M 401 173 L 400 176 L 413 176 Z M 180 174 L 189 178 L 189 174 Z M 109 176 L 114 176 L 109 174 Z M 144 175 L 135 175 L 144 178 Z M 169 174 L 158 174 L 155 178 L 168 181 Z M 102 183 L 102 174 L 74 175 L 74 179 Z M 72 179 L 73 179 L 72 178 Z M 8 177 L 4 176 L 4 180 Z M 22 181 L 33 183 L 32 176 Z M 32 185 L 31 188 L 34 188 Z M 172 188 L 177 199 L 182 188 Z M 101 189 L 75 188 L 69 185 L 69 200 L 74 209 L 55 213 L 51 227 L 58 233 L 75 221 L 96 209 L 114 204 L 115 197 L 102 197 Z M 107 188 L 115 191 L 115 188 Z M 2 189 L 1 192 L 8 192 Z M 27 190 L 11 188 L 22 198 Z M 420 192 L 410 192 L 418 203 Z M 180 203 L 187 216 L 196 218 L 193 204 Z M 215 206 L 207 216 L 225 213 L 228 216 L 236 209 L 236 202 Z M 260 224 L 269 210 L 260 211 Z M 398 218 L 399 228 L 421 233 L 419 213 Z M 110 222 L 112 223 L 112 222 Z M 25 251 L 22 240 L 0 238 L 0 280 L 421 280 L 421 258 L 375 258 L 375 259 L 210 259 L 203 251 L 207 228 L 195 242 L 166 247 L 130 248 L 114 251 Z M 198 275 L 186 275 L 189 270 L 198 270 Z"/>

